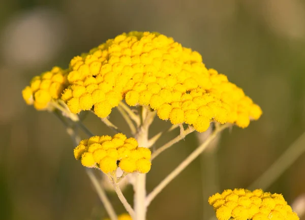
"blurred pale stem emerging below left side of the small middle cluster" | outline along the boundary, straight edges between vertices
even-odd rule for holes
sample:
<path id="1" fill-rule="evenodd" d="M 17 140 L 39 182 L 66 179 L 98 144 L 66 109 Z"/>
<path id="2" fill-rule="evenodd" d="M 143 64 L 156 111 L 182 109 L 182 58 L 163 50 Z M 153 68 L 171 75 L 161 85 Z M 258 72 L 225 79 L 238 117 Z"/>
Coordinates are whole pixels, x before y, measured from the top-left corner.
<path id="1" fill-rule="evenodd" d="M 86 173 L 89 176 L 94 188 L 96 189 L 100 200 L 102 201 L 107 213 L 109 214 L 110 219 L 117 220 L 116 213 L 115 213 L 110 201 L 108 200 L 104 189 L 101 187 L 100 182 L 98 181 L 97 177 L 93 173 L 92 169 L 86 168 Z"/>

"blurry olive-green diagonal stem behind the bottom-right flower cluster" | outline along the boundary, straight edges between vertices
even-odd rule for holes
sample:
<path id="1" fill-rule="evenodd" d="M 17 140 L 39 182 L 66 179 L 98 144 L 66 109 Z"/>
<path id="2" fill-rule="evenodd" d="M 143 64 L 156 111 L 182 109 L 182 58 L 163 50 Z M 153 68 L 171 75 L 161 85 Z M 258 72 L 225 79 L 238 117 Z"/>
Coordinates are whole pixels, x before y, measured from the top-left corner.
<path id="1" fill-rule="evenodd" d="M 305 132 L 247 189 L 267 189 L 305 152 Z"/>

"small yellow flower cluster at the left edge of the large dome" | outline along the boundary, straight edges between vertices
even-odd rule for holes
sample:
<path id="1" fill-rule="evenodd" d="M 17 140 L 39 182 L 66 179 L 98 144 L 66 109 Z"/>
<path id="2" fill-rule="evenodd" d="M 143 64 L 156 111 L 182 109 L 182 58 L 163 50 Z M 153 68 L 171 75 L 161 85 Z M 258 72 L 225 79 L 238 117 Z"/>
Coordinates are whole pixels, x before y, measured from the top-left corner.
<path id="1" fill-rule="evenodd" d="M 22 96 L 29 105 L 37 110 L 48 107 L 52 99 L 58 99 L 67 85 L 67 71 L 55 66 L 51 71 L 34 77 L 30 86 L 22 90 Z"/>

